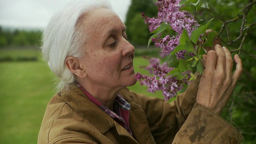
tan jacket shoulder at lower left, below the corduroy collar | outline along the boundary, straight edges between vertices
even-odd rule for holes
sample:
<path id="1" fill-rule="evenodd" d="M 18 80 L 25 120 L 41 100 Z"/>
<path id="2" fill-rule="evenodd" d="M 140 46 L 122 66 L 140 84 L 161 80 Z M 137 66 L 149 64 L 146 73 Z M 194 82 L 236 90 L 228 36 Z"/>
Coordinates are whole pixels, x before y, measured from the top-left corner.
<path id="1" fill-rule="evenodd" d="M 94 134 L 94 137 L 91 134 Z M 75 112 L 60 96 L 55 95 L 46 108 L 38 135 L 38 144 L 55 144 L 67 140 L 92 143 L 99 139 L 97 136 L 100 136 L 100 132 L 96 128 Z"/>

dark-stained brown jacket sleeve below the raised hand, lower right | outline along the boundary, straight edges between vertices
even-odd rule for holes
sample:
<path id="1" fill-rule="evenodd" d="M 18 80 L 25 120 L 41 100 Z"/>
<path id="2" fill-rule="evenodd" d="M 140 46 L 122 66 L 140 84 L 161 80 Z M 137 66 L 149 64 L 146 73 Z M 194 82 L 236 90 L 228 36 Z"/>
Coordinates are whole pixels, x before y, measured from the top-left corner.
<path id="1" fill-rule="evenodd" d="M 173 144 L 240 144 L 242 139 L 236 128 L 196 103 Z"/>

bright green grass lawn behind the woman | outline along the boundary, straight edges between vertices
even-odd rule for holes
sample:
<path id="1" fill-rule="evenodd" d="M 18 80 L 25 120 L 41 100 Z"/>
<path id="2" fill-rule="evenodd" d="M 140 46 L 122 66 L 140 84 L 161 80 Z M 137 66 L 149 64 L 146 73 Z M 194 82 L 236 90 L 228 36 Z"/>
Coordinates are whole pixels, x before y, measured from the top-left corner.
<path id="1" fill-rule="evenodd" d="M 0 50 L 0 58 L 39 56 L 35 50 Z M 134 58 L 135 72 L 146 74 L 142 56 Z M 54 74 L 41 58 L 34 62 L 0 62 L 0 144 L 35 144 L 46 105 L 54 95 Z M 137 82 L 131 90 L 148 96 L 147 87 Z"/>

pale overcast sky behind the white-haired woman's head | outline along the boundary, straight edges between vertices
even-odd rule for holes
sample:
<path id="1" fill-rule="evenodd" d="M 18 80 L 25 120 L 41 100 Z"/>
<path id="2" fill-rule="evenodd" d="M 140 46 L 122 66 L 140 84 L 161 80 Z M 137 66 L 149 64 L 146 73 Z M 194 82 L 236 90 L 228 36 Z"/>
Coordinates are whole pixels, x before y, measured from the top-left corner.
<path id="1" fill-rule="evenodd" d="M 0 0 L 0 26 L 44 29 L 52 15 L 72 0 Z M 110 0 L 124 22 L 130 0 Z"/>

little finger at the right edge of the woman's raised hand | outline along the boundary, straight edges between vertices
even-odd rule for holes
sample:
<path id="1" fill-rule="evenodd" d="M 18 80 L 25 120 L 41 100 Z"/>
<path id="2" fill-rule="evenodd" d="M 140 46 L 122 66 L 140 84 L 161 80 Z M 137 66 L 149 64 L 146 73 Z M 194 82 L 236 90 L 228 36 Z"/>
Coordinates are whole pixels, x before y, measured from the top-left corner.
<path id="1" fill-rule="evenodd" d="M 232 87 L 236 85 L 238 78 L 241 76 L 243 72 L 242 60 L 239 58 L 238 54 L 234 56 L 234 60 L 236 62 L 236 70 L 232 76 Z"/>

